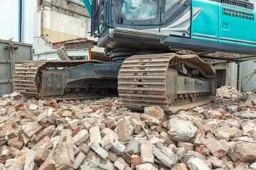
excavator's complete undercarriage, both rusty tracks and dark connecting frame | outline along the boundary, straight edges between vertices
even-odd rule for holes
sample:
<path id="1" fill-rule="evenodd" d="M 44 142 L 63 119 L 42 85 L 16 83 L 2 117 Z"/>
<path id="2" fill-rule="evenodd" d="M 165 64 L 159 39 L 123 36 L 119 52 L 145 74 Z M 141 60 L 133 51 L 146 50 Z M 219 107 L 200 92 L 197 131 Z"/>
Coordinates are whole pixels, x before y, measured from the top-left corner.
<path id="1" fill-rule="evenodd" d="M 17 67 L 14 86 L 26 98 L 119 95 L 124 106 L 132 110 L 160 106 L 168 113 L 210 102 L 216 77 L 210 65 L 198 56 L 169 53 L 134 55 L 123 62 L 26 62 Z"/>

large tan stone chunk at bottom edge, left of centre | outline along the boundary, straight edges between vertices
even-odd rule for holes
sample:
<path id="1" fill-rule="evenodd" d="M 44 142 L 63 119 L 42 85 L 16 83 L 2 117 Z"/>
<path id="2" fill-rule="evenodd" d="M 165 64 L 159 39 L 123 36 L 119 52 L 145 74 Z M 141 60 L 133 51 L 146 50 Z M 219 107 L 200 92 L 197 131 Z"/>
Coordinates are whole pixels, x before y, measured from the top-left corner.
<path id="1" fill-rule="evenodd" d="M 60 143 L 54 149 L 54 159 L 56 169 L 70 169 L 75 159 L 73 144 L 68 141 Z"/>

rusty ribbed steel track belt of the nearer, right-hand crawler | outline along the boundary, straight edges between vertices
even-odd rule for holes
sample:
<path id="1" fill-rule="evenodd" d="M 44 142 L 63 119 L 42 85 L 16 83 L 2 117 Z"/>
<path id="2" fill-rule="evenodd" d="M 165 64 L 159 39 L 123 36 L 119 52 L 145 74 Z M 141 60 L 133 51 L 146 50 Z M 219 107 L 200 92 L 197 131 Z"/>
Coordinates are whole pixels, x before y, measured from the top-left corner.
<path id="1" fill-rule="evenodd" d="M 118 76 L 118 92 L 124 106 L 134 110 L 160 106 L 165 111 L 175 112 L 186 103 L 190 103 L 191 107 L 200 105 L 195 101 L 206 97 L 208 91 L 177 91 L 172 94 L 171 89 L 177 84 L 174 82 L 176 80 L 169 79 L 169 68 L 178 67 L 179 64 L 189 69 L 198 69 L 205 79 L 215 76 L 210 65 L 196 55 L 132 56 L 123 62 Z M 171 81 L 171 86 L 166 85 L 167 81 Z M 195 105 L 191 102 L 195 102 Z"/>

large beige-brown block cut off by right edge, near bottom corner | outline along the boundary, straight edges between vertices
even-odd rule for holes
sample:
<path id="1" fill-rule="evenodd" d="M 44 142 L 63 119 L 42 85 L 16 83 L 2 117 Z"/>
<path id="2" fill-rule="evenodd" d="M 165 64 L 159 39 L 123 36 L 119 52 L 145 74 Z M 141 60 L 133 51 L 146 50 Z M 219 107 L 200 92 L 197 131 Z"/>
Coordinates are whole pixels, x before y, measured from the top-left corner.
<path id="1" fill-rule="evenodd" d="M 256 160 L 256 143 L 241 143 L 236 145 L 236 154 L 242 162 L 254 163 Z"/>

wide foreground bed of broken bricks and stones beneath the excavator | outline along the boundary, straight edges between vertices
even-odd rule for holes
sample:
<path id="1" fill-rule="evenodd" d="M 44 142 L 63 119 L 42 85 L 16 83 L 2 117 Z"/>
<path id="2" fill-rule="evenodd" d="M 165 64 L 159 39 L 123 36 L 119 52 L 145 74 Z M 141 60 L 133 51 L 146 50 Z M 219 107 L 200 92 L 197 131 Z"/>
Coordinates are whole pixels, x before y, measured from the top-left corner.
<path id="1" fill-rule="evenodd" d="M 118 98 L 0 98 L 0 169 L 256 169 L 255 107 L 215 101 L 165 115 Z"/>

